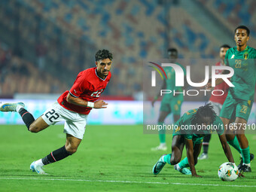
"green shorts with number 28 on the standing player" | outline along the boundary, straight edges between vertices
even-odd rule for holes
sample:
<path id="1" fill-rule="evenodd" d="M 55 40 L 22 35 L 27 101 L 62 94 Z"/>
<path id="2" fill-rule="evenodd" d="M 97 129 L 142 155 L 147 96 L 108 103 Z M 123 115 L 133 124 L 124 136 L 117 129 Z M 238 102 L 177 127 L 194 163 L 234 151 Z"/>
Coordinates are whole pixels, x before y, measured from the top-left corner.
<path id="1" fill-rule="evenodd" d="M 248 120 L 251 113 L 252 102 L 251 100 L 245 101 L 242 99 L 234 99 L 228 93 L 227 98 L 222 105 L 220 117 L 231 119 L 232 117 L 241 117 Z"/>

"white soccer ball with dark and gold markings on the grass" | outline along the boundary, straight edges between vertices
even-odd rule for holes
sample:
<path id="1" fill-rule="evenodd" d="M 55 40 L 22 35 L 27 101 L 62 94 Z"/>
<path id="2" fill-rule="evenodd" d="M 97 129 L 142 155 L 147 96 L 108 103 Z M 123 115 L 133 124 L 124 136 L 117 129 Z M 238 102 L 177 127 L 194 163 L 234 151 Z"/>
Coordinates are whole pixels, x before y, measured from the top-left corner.
<path id="1" fill-rule="evenodd" d="M 218 168 L 218 177 L 222 181 L 235 181 L 238 178 L 238 168 L 235 163 L 226 162 Z"/>

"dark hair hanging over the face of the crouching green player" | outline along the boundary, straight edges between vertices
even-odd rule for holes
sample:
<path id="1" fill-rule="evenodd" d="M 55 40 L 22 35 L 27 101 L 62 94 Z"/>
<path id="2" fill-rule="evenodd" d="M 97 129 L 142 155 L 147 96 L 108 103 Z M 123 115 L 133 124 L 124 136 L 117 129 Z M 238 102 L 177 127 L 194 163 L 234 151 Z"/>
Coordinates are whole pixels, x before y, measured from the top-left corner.
<path id="1" fill-rule="evenodd" d="M 209 117 L 211 119 L 211 124 L 215 121 L 216 113 L 213 110 L 212 103 L 209 102 L 205 104 L 204 106 L 201 106 L 197 109 L 197 113 L 193 115 L 192 117 L 192 123 L 200 124 L 203 122 L 205 117 Z"/>

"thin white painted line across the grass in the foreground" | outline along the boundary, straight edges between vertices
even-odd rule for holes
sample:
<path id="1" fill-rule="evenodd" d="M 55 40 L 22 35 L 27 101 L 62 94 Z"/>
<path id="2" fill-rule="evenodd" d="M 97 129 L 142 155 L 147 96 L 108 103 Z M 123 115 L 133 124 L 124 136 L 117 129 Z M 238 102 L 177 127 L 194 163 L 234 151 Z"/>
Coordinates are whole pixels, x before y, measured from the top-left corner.
<path id="1" fill-rule="evenodd" d="M 106 183 L 130 183 L 130 184 L 176 184 L 176 185 L 197 185 L 215 187 L 256 187 L 256 185 L 231 185 L 231 184 L 191 184 L 191 183 L 169 183 L 169 182 L 147 182 L 147 181 L 109 181 L 109 180 L 86 180 L 66 178 L 0 178 L 0 180 L 44 180 L 44 181 L 84 181 L 84 182 L 106 182 Z"/>

